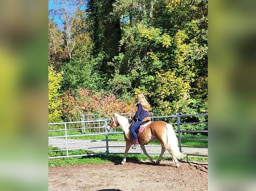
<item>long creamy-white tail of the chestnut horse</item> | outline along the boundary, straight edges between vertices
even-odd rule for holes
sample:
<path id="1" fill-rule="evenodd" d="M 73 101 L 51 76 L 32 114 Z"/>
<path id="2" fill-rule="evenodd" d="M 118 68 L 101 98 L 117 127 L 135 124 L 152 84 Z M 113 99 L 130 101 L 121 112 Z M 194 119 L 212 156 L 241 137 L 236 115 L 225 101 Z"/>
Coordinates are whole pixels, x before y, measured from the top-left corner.
<path id="1" fill-rule="evenodd" d="M 167 141 L 164 147 L 176 158 L 181 159 L 184 158 L 186 155 L 179 152 L 178 147 L 178 139 L 176 137 L 175 131 L 173 130 L 171 124 L 166 124 L 167 128 Z"/>

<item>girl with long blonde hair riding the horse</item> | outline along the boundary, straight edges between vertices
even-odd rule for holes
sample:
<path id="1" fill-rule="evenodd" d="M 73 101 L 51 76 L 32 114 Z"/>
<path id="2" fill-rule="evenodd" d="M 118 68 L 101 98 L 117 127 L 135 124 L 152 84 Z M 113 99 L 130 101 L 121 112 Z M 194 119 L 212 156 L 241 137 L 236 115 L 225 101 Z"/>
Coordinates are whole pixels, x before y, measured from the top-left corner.
<path id="1" fill-rule="evenodd" d="M 140 126 L 142 120 L 148 116 L 148 111 L 152 109 L 142 93 L 137 94 L 136 105 L 138 108 L 134 117 L 132 118 L 132 120 L 134 120 L 134 125 L 131 128 L 131 133 L 134 138 L 134 145 L 132 146 L 133 149 L 140 146 L 135 130 Z"/>

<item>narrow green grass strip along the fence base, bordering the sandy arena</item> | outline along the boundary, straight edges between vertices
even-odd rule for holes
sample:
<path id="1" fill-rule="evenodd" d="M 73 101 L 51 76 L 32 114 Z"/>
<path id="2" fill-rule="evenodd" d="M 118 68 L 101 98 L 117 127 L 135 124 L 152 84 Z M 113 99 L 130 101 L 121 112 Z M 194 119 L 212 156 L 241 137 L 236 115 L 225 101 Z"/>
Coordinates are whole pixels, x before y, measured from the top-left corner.
<path id="1" fill-rule="evenodd" d="M 156 161 L 159 155 L 151 155 L 152 159 Z M 48 165 L 49 167 L 56 166 L 70 166 L 70 165 L 82 165 L 82 164 L 106 164 L 106 163 L 119 163 L 123 160 L 123 155 L 95 155 L 95 156 L 81 156 L 81 157 L 67 157 L 67 158 L 56 158 L 49 159 Z M 147 161 L 148 158 L 146 155 L 140 154 L 128 154 L 126 157 L 126 161 Z M 172 157 L 163 155 L 162 160 L 171 161 Z M 199 162 L 208 162 L 207 157 L 191 157 L 188 156 L 189 161 L 199 161 Z M 186 161 L 184 158 L 183 161 Z"/>

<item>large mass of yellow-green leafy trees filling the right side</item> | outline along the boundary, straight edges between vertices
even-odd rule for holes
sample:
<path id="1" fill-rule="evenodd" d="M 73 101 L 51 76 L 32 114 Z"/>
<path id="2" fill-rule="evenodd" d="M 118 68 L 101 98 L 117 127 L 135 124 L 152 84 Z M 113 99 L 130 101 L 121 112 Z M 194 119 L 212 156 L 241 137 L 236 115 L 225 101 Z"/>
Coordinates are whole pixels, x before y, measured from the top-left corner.
<path id="1" fill-rule="evenodd" d="M 148 95 L 158 114 L 205 110 L 208 1 L 151 3 L 152 9 L 149 1 L 115 3 L 112 14 L 125 20 L 120 41 L 125 51 L 111 64 L 131 75 L 135 94 Z"/>

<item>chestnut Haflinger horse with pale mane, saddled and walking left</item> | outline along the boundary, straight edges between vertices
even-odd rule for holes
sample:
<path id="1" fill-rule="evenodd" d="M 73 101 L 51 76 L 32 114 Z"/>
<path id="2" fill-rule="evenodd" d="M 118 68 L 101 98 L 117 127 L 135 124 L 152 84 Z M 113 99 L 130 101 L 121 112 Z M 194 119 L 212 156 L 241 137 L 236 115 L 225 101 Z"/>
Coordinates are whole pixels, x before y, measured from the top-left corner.
<path id="1" fill-rule="evenodd" d="M 146 120 L 150 121 L 150 117 L 146 117 Z M 145 121 L 145 120 L 143 120 Z M 143 122 L 142 121 L 142 122 Z M 111 117 L 111 120 L 107 126 L 108 131 L 112 131 L 117 126 L 120 126 L 124 132 L 124 139 L 126 141 L 126 148 L 124 152 L 124 158 L 121 164 L 125 164 L 126 162 L 126 156 L 127 153 L 133 145 L 133 136 L 129 129 L 131 119 L 128 119 L 122 115 L 119 114 L 113 114 Z M 143 153 L 148 157 L 151 163 L 159 164 L 161 161 L 161 158 L 163 156 L 163 153 L 167 149 L 168 152 L 172 155 L 172 158 L 175 162 L 176 167 L 179 167 L 178 160 L 184 158 L 186 155 L 182 154 L 179 151 L 178 148 L 178 139 L 175 135 L 175 132 L 171 126 L 171 124 L 168 124 L 164 121 L 154 121 L 154 122 L 148 122 L 142 132 L 138 134 L 138 140 L 141 146 L 141 149 L 143 150 Z M 159 143 L 161 143 L 162 149 L 161 154 L 156 162 L 152 160 L 152 158 L 148 155 L 144 144 L 150 143 L 154 140 L 158 140 Z"/>

